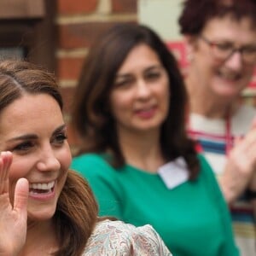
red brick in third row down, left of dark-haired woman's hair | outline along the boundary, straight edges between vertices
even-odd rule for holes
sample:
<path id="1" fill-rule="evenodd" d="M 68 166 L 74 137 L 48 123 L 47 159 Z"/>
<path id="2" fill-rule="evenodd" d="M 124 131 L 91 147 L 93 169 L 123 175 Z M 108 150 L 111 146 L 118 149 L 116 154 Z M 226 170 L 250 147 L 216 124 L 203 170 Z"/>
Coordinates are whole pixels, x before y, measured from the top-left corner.
<path id="1" fill-rule="evenodd" d="M 58 59 L 58 79 L 79 79 L 79 73 L 84 63 L 84 57 L 64 57 Z"/>

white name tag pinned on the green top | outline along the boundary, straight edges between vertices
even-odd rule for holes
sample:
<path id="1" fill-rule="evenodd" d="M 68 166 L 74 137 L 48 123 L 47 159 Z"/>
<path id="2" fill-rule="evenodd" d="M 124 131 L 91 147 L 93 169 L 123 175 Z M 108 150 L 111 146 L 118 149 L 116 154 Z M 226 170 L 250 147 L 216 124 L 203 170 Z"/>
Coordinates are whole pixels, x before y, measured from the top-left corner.
<path id="1" fill-rule="evenodd" d="M 168 189 L 173 189 L 189 179 L 189 170 L 183 157 L 160 166 L 158 173 Z"/>

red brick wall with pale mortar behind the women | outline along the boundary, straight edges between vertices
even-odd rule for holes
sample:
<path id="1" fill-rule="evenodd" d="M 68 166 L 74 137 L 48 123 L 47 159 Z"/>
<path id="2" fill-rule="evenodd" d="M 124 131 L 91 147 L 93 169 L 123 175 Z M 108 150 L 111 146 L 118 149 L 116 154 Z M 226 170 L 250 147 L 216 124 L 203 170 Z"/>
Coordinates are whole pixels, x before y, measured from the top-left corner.
<path id="1" fill-rule="evenodd" d="M 56 76 L 61 84 L 65 118 L 69 119 L 73 91 L 84 58 L 94 39 L 118 22 L 137 22 L 137 0 L 57 0 Z M 74 150 L 76 139 L 68 127 Z"/>

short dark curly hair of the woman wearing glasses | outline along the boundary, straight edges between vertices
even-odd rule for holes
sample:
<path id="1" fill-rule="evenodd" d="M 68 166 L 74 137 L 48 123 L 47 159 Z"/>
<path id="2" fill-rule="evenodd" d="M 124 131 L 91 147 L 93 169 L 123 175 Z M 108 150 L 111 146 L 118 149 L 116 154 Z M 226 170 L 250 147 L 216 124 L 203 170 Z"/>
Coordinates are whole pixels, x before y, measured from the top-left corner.
<path id="1" fill-rule="evenodd" d="M 255 0 L 185 0 L 183 10 L 178 19 L 180 32 L 198 35 L 208 20 L 230 15 L 235 20 L 249 18 L 253 28 L 256 26 Z"/>

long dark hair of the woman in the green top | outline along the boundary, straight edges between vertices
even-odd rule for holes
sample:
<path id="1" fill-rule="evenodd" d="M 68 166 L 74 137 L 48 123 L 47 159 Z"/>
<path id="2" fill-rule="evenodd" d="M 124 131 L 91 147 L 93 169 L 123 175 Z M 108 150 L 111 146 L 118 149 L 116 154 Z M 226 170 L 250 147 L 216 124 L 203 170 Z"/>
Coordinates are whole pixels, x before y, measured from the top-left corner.
<path id="1" fill-rule="evenodd" d="M 194 143 L 185 131 L 187 94 L 177 61 L 154 31 L 133 23 L 111 27 L 98 38 L 86 56 L 72 112 L 73 127 L 82 141 L 79 154 L 111 152 L 114 167 L 125 164 L 116 123 L 110 113 L 109 96 L 119 67 L 138 44 L 147 44 L 154 50 L 170 81 L 170 106 L 160 134 L 162 154 L 166 160 L 183 156 L 188 163 L 190 177 L 196 177 L 199 162 Z"/>

